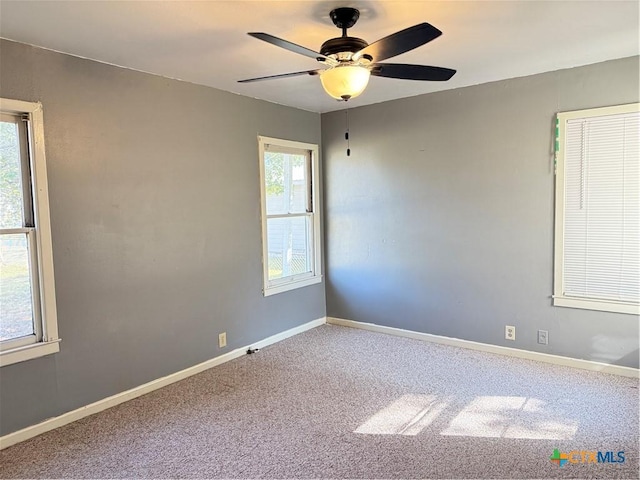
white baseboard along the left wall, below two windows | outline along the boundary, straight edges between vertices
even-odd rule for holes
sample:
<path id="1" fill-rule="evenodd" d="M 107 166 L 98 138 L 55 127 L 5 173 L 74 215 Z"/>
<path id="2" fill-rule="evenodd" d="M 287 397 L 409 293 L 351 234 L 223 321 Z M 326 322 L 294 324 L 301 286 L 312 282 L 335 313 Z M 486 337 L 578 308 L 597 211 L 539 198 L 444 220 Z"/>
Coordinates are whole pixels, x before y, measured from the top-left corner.
<path id="1" fill-rule="evenodd" d="M 246 355 L 248 348 L 264 348 L 273 343 L 277 343 L 281 340 L 292 337 L 293 335 L 297 335 L 298 333 L 302 333 L 306 330 L 310 330 L 312 328 L 323 325 L 324 323 L 326 323 L 325 317 L 319 318 L 317 320 L 312 320 L 311 322 L 291 328 L 289 330 L 285 330 L 281 333 L 277 333 L 276 335 L 272 335 L 256 343 L 252 343 L 251 345 L 236 348 L 229 353 L 225 353 L 224 355 L 220 355 L 219 357 L 199 363 L 198 365 L 194 365 L 193 367 L 185 368 L 184 370 L 172 373 L 171 375 L 167 375 L 166 377 L 152 380 L 151 382 L 145 383 L 138 387 L 134 387 L 130 390 L 117 393 L 110 397 L 103 398 L 102 400 L 98 400 L 97 402 L 85 405 L 84 407 L 80 407 L 70 412 L 63 413 L 62 415 L 59 415 L 57 417 L 49 418 L 36 425 L 32 425 L 30 427 L 23 428 L 22 430 L 9 433 L 7 435 L 4 435 L 3 437 L 0 437 L 0 450 L 10 447 L 11 445 L 15 445 L 16 443 L 23 442 L 55 428 L 62 427 L 63 425 L 67 425 L 68 423 L 75 422 L 76 420 L 80 420 L 81 418 L 88 417 L 89 415 L 93 415 L 94 413 L 101 412 L 103 410 L 106 410 L 107 408 L 114 407 L 128 400 L 140 397 L 159 388 L 165 387 L 197 373 L 213 368 L 217 365 L 226 363 L 230 360 L 233 360 L 234 358 Z"/>

